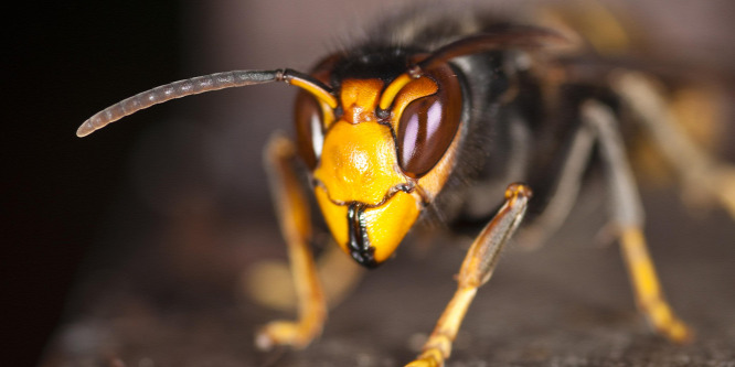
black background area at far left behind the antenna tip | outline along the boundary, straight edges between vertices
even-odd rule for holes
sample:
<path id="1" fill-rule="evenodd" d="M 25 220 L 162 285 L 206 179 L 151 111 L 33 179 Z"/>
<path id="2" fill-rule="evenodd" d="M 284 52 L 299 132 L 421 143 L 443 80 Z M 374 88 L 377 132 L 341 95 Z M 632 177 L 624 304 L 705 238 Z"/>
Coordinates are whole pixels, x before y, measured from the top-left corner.
<path id="1" fill-rule="evenodd" d="M 179 77 L 182 25 L 179 1 L 15 6 L 3 6 L 0 51 L 2 364 L 33 366 L 82 259 L 110 223 L 143 128 L 79 140 L 76 126 L 95 109 Z"/>

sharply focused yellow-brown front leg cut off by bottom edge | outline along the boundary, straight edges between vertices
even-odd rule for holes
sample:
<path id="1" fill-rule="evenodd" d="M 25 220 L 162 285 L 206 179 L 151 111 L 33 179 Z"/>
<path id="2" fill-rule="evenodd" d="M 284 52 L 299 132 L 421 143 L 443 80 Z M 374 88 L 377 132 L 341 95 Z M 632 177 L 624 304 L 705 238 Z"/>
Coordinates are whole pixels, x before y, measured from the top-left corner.
<path id="1" fill-rule="evenodd" d="M 511 184 L 505 191 L 505 203 L 492 220 L 482 229 L 470 247 L 457 277 L 457 292 L 452 296 L 434 332 L 424 345 L 418 358 L 407 367 L 438 367 L 451 354 L 451 343 L 457 336 L 465 313 L 480 285 L 496 269 L 500 252 L 518 228 L 525 209 L 531 188 Z"/>

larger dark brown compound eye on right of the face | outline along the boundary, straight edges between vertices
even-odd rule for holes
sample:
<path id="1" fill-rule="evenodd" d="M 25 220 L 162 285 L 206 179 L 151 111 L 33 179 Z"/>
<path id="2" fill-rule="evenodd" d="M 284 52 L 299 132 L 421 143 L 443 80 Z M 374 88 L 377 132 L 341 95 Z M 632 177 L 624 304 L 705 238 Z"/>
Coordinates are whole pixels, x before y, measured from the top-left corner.
<path id="1" fill-rule="evenodd" d="M 460 96 L 437 91 L 411 102 L 398 120 L 398 164 L 420 179 L 441 160 L 455 139 L 460 119 Z"/>

